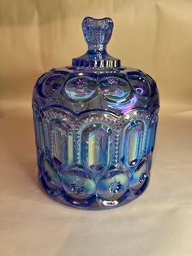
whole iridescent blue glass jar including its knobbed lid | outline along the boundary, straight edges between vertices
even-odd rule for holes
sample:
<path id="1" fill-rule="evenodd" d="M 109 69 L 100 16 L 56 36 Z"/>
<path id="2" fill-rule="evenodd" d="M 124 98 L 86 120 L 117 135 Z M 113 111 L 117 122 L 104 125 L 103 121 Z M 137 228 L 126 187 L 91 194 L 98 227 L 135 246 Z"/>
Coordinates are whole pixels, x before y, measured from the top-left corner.
<path id="1" fill-rule="evenodd" d="M 88 51 L 37 80 L 33 116 L 42 188 L 86 209 L 124 205 L 150 181 L 158 123 L 155 81 L 107 54 L 113 22 L 86 17 Z"/>

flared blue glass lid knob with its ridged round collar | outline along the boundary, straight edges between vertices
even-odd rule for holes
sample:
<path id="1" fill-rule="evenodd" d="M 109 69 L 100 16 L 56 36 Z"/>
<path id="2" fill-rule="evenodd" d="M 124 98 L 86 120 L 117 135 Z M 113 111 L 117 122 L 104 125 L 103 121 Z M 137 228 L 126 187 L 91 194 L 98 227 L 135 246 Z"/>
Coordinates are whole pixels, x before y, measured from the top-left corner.
<path id="1" fill-rule="evenodd" d="M 82 29 L 88 51 L 72 59 L 75 68 L 119 68 L 120 60 L 107 54 L 106 47 L 113 30 L 111 18 L 94 19 L 85 17 Z"/>

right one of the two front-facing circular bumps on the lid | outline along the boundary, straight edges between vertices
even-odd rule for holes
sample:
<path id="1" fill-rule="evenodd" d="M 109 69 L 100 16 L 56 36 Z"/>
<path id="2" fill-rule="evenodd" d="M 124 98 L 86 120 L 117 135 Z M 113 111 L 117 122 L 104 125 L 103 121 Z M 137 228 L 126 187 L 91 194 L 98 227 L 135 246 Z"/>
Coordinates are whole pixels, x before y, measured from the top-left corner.
<path id="1" fill-rule="evenodd" d="M 104 77 L 99 85 L 103 95 L 112 101 L 123 102 L 130 93 L 128 82 L 119 77 Z"/>

